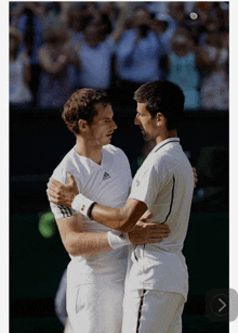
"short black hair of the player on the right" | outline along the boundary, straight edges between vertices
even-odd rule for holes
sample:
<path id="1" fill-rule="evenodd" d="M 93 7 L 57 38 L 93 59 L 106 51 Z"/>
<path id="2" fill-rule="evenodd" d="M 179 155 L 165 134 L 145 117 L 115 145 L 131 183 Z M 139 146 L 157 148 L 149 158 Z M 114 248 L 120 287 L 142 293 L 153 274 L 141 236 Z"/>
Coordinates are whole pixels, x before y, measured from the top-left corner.
<path id="1" fill-rule="evenodd" d="M 177 128 L 185 117 L 185 97 L 182 89 L 170 81 L 158 80 L 141 86 L 134 93 L 137 103 L 146 103 L 146 110 L 154 118 L 157 113 L 167 118 L 168 130 Z"/>

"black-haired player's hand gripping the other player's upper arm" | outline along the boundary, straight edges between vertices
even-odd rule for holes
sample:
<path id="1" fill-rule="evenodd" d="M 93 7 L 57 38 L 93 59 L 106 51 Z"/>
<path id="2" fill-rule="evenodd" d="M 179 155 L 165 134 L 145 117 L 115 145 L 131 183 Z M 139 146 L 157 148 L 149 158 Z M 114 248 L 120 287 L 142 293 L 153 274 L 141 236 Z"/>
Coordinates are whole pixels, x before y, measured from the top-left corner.
<path id="1" fill-rule="evenodd" d="M 62 205 L 65 207 L 71 207 L 71 203 L 77 194 L 79 194 L 79 190 L 77 187 L 77 182 L 72 175 L 67 174 L 68 183 L 63 184 L 60 181 L 50 178 L 50 182 L 48 183 L 48 198 L 51 203 Z"/>

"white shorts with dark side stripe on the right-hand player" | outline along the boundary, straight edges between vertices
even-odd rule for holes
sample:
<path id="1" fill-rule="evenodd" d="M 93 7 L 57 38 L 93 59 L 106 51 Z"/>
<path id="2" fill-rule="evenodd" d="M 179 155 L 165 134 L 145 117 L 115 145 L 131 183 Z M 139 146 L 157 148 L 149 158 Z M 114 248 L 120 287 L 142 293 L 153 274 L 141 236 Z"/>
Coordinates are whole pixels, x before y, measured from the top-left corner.
<path id="1" fill-rule="evenodd" d="M 122 333 L 181 333 L 185 299 L 178 293 L 125 292 Z"/>

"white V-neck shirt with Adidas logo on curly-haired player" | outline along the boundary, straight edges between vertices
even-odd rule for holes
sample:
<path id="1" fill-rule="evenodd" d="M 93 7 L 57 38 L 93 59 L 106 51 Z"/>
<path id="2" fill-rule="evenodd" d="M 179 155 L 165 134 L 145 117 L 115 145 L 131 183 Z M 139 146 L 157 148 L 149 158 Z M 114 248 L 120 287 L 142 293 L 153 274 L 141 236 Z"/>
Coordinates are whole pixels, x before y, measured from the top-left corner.
<path id="1" fill-rule="evenodd" d="M 71 174 L 80 193 L 101 205 L 121 208 L 127 202 L 131 188 L 132 177 L 129 161 L 122 150 L 107 144 L 103 146 L 101 165 L 81 156 L 74 146 L 54 170 L 52 178 L 66 183 L 67 175 Z M 65 218 L 78 212 L 51 204 L 55 219 Z M 83 231 L 107 232 L 110 228 L 83 217 Z M 120 232 L 118 232 L 120 234 Z M 70 256 L 78 262 L 78 283 L 94 283 L 96 279 L 124 279 L 127 269 L 127 246 L 113 249 L 95 256 L 83 258 Z"/>

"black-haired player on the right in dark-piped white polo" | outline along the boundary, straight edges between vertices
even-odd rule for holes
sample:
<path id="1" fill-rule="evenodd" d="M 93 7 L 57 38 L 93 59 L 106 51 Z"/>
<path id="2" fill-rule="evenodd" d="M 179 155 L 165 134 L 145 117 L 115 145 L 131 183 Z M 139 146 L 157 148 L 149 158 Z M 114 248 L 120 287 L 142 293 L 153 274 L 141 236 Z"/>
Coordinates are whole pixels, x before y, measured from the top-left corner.
<path id="1" fill-rule="evenodd" d="M 164 80 L 143 85 L 134 98 L 135 124 L 145 140 L 156 140 L 157 145 L 137 170 L 125 205 L 98 205 L 77 194 L 75 184 L 70 187 L 74 194 L 60 202 L 121 232 L 129 232 L 147 209 L 155 220 L 170 227 L 169 238 L 160 243 L 130 246 L 122 333 L 177 333 L 182 332 L 181 317 L 188 291 L 182 248 L 194 190 L 193 168 L 177 138 L 184 94 L 178 86 Z"/>

